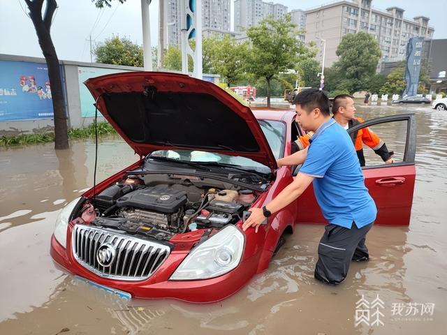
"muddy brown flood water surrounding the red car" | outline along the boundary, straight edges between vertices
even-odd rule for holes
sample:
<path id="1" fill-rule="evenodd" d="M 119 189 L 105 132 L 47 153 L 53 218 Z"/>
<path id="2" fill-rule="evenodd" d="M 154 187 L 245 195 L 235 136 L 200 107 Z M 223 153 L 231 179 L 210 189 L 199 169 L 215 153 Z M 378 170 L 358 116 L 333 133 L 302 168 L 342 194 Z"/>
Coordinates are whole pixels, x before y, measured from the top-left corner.
<path id="1" fill-rule="evenodd" d="M 357 114 L 404 112 L 416 114 L 418 133 L 409 227 L 372 228 L 369 262 L 354 263 L 342 285 L 328 287 L 313 276 L 323 226 L 298 225 L 267 271 L 233 297 L 205 305 L 124 301 L 52 262 L 58 212 L 93 184 L 92 140 L 65 151 L 53 144 L 1 149 L 0 334 L 446 334 L 447 113 L 359 105 Z M 137 158 L 119 138 L 103 138 L 97 180 Z M 370 306 L 369 324 L 379 311 L 383 325 L 355 325 L 362 295 L 380 299 L 383 306 Z"/>

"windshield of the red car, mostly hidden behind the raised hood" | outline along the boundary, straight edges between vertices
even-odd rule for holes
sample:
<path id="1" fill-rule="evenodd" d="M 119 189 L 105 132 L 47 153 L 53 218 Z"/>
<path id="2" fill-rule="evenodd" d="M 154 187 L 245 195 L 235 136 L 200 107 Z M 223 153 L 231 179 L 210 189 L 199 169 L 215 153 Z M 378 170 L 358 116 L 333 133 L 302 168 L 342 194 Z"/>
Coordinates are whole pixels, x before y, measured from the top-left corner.
<path id="1" fill-rule="evenodd" d="M 265 138 L 268 141 L 268 144 L 270 145 L 270 149 L 272 149 L 274 158 L 276 159 L 281 158 L 284 153 L 284 140 L 286 133 L 285 124 L 281 121 L 272 121 L 272 120 L 258 120 L 258 122 L 265 135 Z M 266 167 L 261 163 L 253 161 L 250 158 L 242 156 L 228 156 L 206 151 L 198 151 L 198 150 L 191 151 L 181 149 L 158 150 L 152 152 L 150 156 L 174 158 L 178 159 L 179 161 L 188 161 L 188 162 L 224 163 L 259 170 L 260 172 L 270 172 L 270 168 Z"/>

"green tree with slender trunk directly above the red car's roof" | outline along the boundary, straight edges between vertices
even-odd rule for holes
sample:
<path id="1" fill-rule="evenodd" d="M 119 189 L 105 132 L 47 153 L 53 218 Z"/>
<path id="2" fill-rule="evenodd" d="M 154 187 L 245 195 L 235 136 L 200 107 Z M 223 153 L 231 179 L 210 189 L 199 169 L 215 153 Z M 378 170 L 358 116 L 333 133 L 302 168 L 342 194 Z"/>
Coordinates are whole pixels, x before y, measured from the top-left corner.
<path id="1" fill-rule="evenodd" d="M 271 81 L 275 75 L 294 68 L 298 54 L 305 52 L 305 45 L 295 38 L 298 31 L 291 16 L 272 20 L 268 17 L 247 30 L 251 42 L 249 71 L 267 82 L 267 106 L 270 107 Z"/>

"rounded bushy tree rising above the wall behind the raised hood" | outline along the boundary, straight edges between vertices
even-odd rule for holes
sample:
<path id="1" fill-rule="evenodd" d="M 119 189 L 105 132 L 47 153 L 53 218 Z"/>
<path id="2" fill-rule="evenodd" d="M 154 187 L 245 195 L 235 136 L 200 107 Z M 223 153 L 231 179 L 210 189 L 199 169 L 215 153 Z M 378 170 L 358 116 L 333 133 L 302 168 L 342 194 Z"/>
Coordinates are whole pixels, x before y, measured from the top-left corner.
<path id="1" fill-rule="evenodd" d="M 94 54 L 98 63 L 143 66 L 142 47 L 126 37 L 106 39 L 95 47 Z"/>

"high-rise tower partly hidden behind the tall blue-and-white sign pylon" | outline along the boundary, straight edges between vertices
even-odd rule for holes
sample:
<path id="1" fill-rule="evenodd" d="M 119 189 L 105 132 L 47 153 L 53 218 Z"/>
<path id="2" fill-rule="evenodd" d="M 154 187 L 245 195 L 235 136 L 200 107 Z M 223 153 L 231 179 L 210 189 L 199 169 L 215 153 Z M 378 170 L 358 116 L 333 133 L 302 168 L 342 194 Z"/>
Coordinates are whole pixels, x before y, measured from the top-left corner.
<path id="1" fill-rule="evenodd" d="M 166 0 L 164 6 L 164 47 L 180 45 L 180 0 Z M 230 0 L 202 0 L 202 29 L 230 31 Z"/>

